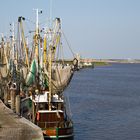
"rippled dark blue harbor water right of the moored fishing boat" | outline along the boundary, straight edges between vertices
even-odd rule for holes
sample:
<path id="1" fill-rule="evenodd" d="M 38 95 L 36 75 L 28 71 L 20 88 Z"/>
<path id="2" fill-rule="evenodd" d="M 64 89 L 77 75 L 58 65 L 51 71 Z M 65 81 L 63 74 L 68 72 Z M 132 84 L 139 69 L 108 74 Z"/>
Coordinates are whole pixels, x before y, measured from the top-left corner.
<path id="1" fill-rule="evenodd" d="M 82 69 L 65 94 L 75 140 L 140 139 L 140 64 Z"/>

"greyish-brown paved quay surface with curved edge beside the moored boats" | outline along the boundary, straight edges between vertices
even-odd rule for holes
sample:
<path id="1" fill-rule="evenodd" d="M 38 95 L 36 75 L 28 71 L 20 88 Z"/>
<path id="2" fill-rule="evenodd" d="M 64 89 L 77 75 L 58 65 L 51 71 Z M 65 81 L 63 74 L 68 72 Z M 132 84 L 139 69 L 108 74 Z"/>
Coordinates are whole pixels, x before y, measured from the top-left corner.
<path id="1" fill-rule="evenodd" d="M 39 127 L 19 117 L 0 100 L 0 140 L 44 140 Z"/>

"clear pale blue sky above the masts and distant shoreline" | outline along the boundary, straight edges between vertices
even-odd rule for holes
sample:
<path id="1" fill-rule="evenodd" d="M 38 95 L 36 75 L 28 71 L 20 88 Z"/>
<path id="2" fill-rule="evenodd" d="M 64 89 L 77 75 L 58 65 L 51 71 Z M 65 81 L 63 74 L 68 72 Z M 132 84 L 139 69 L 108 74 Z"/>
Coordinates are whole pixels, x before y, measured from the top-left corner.
<path id="1" fill-rule="evenodd" d="M 16 22 L 19 16 L 35 22 L 33 9 L 39 8 L 43 11 L 40 21 L 61 18 L 72 50 L 82 58 L 140 59 L 140 0 L 0 2 L 0 33 L 8 35 L 9 24 Z"/>

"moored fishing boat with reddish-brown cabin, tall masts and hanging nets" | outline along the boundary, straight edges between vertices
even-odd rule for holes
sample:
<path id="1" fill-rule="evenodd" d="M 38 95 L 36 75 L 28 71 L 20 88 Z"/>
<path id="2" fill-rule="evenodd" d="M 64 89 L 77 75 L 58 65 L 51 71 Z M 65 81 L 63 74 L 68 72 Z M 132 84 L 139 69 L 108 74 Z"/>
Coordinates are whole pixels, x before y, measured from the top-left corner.
<path id="1" fill-rule="evenodd" d="M 19 42 L 15 43 L 13 35 L 9 55 L 5 58 L 8 72 L 4 102 L 39 126 L 45 139 L 71 140 L 74 138 L 73 121 L 64 90 L 78 62 L 74 59 L 70 65 L 57 58 L 62 48 L 60 18 L 56 18 L 52 28 L 41 34 L 38 13 L 36 9 L 36 29 L 31 48 L 28 48 L 24 35 L 25 18 L 18 18 Z"/>

